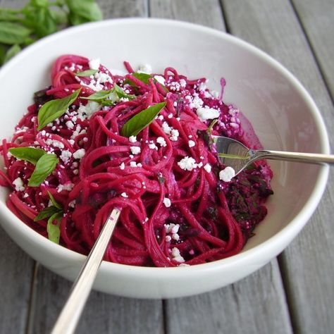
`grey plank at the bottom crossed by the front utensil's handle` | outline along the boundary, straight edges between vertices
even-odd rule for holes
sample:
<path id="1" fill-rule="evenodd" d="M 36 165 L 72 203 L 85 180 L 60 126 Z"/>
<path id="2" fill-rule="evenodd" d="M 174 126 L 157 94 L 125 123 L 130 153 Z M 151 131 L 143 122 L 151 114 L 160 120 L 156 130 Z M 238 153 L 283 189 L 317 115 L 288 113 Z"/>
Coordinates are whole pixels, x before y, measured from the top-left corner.
<path id="1" fill-rule="evenodd" d="M 72 283 L 39 266 L 34 312 L 28 333 L 49 333 L 68 297 Z M 111 283 L 112 284 L 112 283 Z M 162 303 L 93 291 L 76 333 L 162 333 Z"/>

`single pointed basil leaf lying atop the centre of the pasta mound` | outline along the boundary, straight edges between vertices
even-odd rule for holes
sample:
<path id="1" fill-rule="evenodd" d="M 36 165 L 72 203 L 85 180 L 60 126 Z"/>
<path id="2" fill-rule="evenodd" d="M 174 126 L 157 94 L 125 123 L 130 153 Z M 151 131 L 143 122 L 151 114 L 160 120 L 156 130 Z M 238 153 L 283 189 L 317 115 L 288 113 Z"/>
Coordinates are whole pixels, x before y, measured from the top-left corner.
<path id="1" fill-rule="evenodd" d="M 166 102 L 161 102 L 137 113 L 137 115 L 130 118 L 130 120 L 123 125 L 120 131 L 121 135 L 125 137 L 138 135 L 140 131 L 154 121 L 154 118 L 156 118 L 164 106 L 166 106 Z"/>

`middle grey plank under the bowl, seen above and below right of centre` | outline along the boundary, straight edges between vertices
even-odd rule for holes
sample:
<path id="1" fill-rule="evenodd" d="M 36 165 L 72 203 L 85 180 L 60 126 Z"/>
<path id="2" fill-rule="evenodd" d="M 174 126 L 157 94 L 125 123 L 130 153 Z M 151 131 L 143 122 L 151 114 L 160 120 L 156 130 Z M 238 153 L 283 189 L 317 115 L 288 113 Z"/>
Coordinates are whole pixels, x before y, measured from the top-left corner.
<path id="1" fill-rule="evenodd" d="M 225 30 L 216 1 L 151 0 L 149 8 L 152 17 Z M 276 260 L 240 283 L 199 296 L 167 300 L 165 305 L 167 333 L 292 332 Z"/>

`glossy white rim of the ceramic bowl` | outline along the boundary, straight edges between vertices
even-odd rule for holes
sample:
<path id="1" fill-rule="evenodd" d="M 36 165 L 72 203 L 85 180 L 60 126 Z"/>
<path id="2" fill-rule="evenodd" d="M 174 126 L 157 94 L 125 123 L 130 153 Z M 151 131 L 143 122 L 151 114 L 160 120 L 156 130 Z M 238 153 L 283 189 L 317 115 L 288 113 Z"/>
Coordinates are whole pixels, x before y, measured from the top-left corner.
<path id="1" fill-rule="evenodd" d="M 287 70 L 282 64 L 280 64 L 276 59 L 272 56 L 266 54 L 266 52 L 262 51 L 258 47 L 250 44 L 249 42 L 245 42 L 243 39 L 239 37 L 235 37 L 226 32 L 216 30 L 211 27 L 204 27 L 202 25 L 194 24 L 194 23 L 186 23 L 179 20 L 170 20 L 170 19 L 161 19 L 161 18 L 116 18 L 103 20 L 96 23 L 86 23 L 84 25 L 79 25 L 76 27 L 69 27 L 65 30 L 61 30 L 59 32 L 54 33 L 48 37 L 44 37 L 34 44 L 30 45 L 23 51 L 21 51 L 18 55 L 16 55 L 11 61 L 8 61 L 0 70 L 0 78 L 2 75 L 8 73 L 16 63 L 25 58 L 25 56 L 31 54 L 35 51 L 35 49 L 39 49 L 39 47 L 43 47 L 44 44 L 48 44 L 49 42 L 55 42 L 57 39 L 61 39 L 68 35 L 75 35 L 76 32 L 83 32 L 86 30 L 91 30 L 99 27 L 111 27 L 113 25 L 164 25 L 166 27 L 180 27 L 189 30 L 204 32 L 208 35 L 212 35 L 214 37 L 218 37 L 220 39 L 225 39 L 225 41 L 237 44 L 239 47 L 243 49 L 247 49 L 247 51 L 251 52 L 255 56 L 261 58 L 261 61 L 268 63 L 270 66 L 278 70 L 283 77 L 285 77 L 294 87 L 297 89 L 297 92 L 302 96 L 306 104 L 309 106 L 309 111 L 311 112 L 311 116 L 314 118 L 314 122 L 316 123 L 316 128 L 318 128 L 318 133 L 320 137 L 320 145 L 321 152 L 324 154 L 329 154 L 329 140 L 328 133 L 326 131 L 325 123 L 321 117 L 321 113 L 318 110 L 315 102 L 311 98 L 309 92 L 304 88 L 304 86 L 299 82 L 297 78 Z M 247 249 L 245 252 L 241 252 L 239 254 L 235 254 L 233 256 L 229 256 L 228 258 L 212 261 L 206 264 L 197 264 L 193 266 L 182 266 L 182 267 L 168 267 L 168 268 L 160 268 L 160 267 L 144 267 L 144 266 L 130 266 L 125 264 L 115 264 L 108 261 L 102 261 L 100 271 L 101 272 L 113 272 L 117 271 L 119 274 L 126 274 L 131 272 L 131 275 L 136 275 L 141 278 L 151 278 L 152 275 L 155 275 L 156 278 L 171 275 L 174 278 L 177 276 L 178 278 L 186 278 L 187 276 L 191 276 L 194 271 L 204 272 L 204 271 L 220 271 L 222 268 L 228 268 L 233 266 L 238 266 L 243 263 L 247 263 L 247 261 L 252 257 L 257 257 L 261 254 L 266 254 L 266 252 L 271 252 L 275 249 L 280 248 L 280 244 L 282 244 L 282 240 L 290 240 L 291 235 L 295 237 L 299 230 L 307 223 L 311 215 L 314 213 L 316 206 L 321 200 L 322 194 L 326 188 L 326 183 L 328 180 L 329 166 L 321 166 L 318 171 L 318 177 L 316 178 L 316 185 L 314 190 L 311 192 L 311 196 L 304 204 L 299 213 L 292 218 L 292 220 L 278 233 L 270 237 L 268 240 L 261 242 L 261 244 L 252 247 L 251 249 Z M 22 233 L 25 233 L 27 237 L 32 240 L 35 240 L 36 243 L 40 245 L 42 249 L 47 248 L 49 252 L 53 253 L 57 257 L 67 258 L 68 261 L 78 261 L 82 263 L 85 261 L 86 256 L 80 253 L 74 252 L 73 250 L 67 249 L 61 245 L 56 245 L 54 242 L 51 242 L 46 237 L 39 235 L 39 233 L 35 232 L 32 228 L 27 226 L 23 221 L 20 221 L 19 218 L 15 216 L 6 206 L 5 203 L 1 202 L 0 204 L 1 215 L 12 223 L 16 221 L 17 224 L 13 228 L 16 230 L 20 230 Z M 2 223 L 1 223 L 2 224 Z"/>

